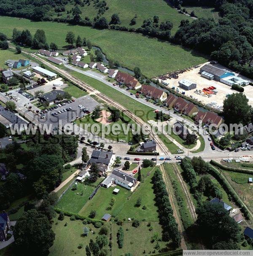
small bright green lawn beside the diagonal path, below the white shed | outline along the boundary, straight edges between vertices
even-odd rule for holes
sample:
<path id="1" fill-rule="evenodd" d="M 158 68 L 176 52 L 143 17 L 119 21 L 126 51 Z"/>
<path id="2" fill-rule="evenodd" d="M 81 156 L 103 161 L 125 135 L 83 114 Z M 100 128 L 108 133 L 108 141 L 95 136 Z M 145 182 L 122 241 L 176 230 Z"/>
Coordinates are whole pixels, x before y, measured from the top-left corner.
<path id="1" fill-rule="evenodd" d="M 56 207 L 67 212 L 78 213 L 89 200 L 89 196 L 92 194 L 93 190 L 94 187 L 86 186 L 78 182 L 77 190 L 67 190 Z"/>

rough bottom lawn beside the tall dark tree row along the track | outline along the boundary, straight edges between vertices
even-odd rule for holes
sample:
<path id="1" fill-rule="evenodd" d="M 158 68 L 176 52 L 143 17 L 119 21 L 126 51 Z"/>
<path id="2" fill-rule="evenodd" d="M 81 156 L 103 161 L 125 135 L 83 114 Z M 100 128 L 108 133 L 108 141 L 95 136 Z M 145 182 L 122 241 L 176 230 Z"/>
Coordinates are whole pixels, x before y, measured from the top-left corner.
<path id="1" fill-rule="evenodd" d="M 154 255 L 158 253 L 158 250 L 154 249 L 156 246 L 156 241 L 151 242 L 154 234 L 158 234 L 161 238 L 161 226 L 158 222 L 152 222 L 151 226 L 153 230 L 149 231 L 148 222 L 141 222 L 140 226 L 135 228 L 132 226 L 131 222 L 126 222 L 123 224 L 122 228 L 124 231 L 124 242 L 123 247 L 118 248 L 117 243 L 117 232 L 119 226 L 115 223 L 112 224 L 112 255 L 125 255 L 125 253 L 132 253 L 134 256 L 139 255 Z M 126 230 L 127 229 L 127 230 Z M 160 249 L 163 251 L 171 250 L 169 242 L 158 242 Z M 145 250 L 145 253 L 144 253 Z M 164 254 L 166 255 L 166 254 Z"/>

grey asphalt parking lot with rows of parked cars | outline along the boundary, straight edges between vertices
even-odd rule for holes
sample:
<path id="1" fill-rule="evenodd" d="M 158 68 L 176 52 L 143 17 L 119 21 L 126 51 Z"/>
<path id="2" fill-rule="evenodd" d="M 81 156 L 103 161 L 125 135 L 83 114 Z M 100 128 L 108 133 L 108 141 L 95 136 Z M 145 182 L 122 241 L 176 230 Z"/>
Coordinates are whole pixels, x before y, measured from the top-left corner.
<path id="1" fill-rule="evenodd" d="M 75 102 L 67 103 L 63 107 L 58 107 L 57 109 L 45 113 L 45 118 L 41 121 L 41 123 L 53 124 L 54 128 L 58 127 L 59 120 L 62 121 L 62 126 L 64 126 L 67 123 L 71 123 L 71 121 L 74 121 L 76 118 L 80 118 L 87 115 L 86 113 L 83 113 L 82 110 L 80 110 L 78 105 L 83 105 L 83 107 L 88 109 L 89 112 L 92 112 L 94 108 L 100 104 L 97 101 L 95 101 L 91 96 L 85 95 L 83 97 L 75 99 Z M 52 113 L 58 112 L 63 109 L 67 109 L 69 107 L 72 107 L 72 110 L 60 113 L 57 116 L 51 115 Z"/>

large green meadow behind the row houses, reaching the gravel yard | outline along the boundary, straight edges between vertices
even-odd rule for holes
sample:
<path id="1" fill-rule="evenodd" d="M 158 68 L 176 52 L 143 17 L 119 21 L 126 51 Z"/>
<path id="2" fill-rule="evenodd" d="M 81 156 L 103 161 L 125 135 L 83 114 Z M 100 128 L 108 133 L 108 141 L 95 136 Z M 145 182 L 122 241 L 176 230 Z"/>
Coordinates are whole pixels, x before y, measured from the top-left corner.
<path id="1" fill-rule="evenodd" d="M 76 36 L 80 35 L 82 38 L 89 39 L 93 45 L 102 49 L 107 58 L 118 60 L 122 66 L 131 70 L 139 66 L 147 77 L 156 77 L 207 61 L 204 56 L 192 50 L 137 33 L 0 17 L 0 31 L 8 38 L 11 38 L 13 28 L 19 30 L 27 28 L 32 34 L 38 28 L 42 28 L 46 33 L 48 43 L 54 41 L 60 49 L 66 49 L 65 36 L 68 31 L 73 31 Z"/>

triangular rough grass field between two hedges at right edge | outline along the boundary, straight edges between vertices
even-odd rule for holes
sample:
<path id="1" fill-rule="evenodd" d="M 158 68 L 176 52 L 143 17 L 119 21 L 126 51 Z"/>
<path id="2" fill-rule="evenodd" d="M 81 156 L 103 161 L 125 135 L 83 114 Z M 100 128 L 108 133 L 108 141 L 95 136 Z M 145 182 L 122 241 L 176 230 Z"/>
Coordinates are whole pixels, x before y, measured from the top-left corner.
<path id="1" fill-rule="evenodd" d="M 248 178 L 253 175 L 237 173 L 233 171 L 222 171 L 231 186 L 236 190 L 242 201 L 253 211 L 253 184 L 248 183 Z"/>

